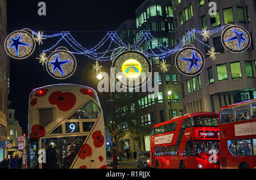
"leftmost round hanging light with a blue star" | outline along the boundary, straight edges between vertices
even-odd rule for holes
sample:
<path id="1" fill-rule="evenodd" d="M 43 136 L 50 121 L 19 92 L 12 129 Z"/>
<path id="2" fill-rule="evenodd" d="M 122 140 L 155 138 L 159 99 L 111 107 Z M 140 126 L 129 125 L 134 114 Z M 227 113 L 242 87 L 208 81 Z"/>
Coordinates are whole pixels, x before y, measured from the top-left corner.
<path id="1" fill-rule="evenodd" d="M 12 32 L 5 40 L 6 53 L 16 59 L 30 56 L 35 50 L 35 40 L 27 31 Z"/>

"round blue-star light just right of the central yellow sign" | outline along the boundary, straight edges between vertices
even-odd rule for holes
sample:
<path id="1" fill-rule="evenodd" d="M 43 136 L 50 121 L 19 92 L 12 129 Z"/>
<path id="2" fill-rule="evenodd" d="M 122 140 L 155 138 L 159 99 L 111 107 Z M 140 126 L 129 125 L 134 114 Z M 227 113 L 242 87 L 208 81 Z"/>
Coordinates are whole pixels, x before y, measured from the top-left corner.
<path id="1" fill-rule="evenodd" d="M 203 54 L 196 48 L 187 47 L 181 49 L 175 58 L 175 65 L 180 73 L 186 76 L 195 76 L 204 68 Z"/>

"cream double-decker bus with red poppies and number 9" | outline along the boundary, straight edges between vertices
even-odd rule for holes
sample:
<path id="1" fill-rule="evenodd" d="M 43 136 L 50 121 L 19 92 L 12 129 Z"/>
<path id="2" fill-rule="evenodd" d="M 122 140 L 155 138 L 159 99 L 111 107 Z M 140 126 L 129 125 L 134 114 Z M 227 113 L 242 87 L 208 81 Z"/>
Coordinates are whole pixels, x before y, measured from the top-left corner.
<path id="1" fill-rule="evenodd" d="M 90 87 L 39 87 L 28 102 L 28 167 L 106 169 L 104 119 Z"/>

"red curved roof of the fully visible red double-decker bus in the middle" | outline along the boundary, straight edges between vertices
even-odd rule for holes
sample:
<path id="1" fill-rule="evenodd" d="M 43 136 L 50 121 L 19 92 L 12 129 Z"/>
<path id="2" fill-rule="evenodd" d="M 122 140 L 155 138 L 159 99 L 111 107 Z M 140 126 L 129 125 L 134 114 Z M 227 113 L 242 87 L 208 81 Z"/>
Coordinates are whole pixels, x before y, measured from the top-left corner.
<path id="1" fill-rule="evenodd" d="M 192 117 L 213 117 L 213 118 L 218 118 L 218 114 L 214 113 L 214 112 L 193 112 L 191 114 L 185 114 L 184 116 L 177 116 L 175 118 L 172 118 L 171 120 L 167 120 L 166 122 L 163 123 L 159 123 L 159 124 L 155 124 L 153 128 L 162 126 L 162 125 L 166 125 L 166 124 L 170 124 L 173 122 L 176 122 L 178 120 L 183 120 L 183 119 L 187 119 L 187 118 L 192 118 Z"/>

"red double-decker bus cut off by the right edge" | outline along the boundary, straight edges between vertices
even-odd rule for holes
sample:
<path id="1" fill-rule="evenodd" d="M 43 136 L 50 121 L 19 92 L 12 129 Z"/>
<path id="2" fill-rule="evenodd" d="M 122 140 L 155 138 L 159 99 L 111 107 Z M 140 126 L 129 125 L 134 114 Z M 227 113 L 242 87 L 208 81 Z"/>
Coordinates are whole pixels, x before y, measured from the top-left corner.
<path id="1" fill-rule="evenodd" d="M 256 99 L 222 107 L 221 168 L 256 168 Z"/>

